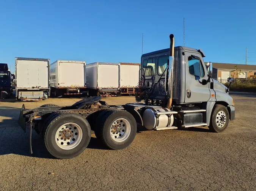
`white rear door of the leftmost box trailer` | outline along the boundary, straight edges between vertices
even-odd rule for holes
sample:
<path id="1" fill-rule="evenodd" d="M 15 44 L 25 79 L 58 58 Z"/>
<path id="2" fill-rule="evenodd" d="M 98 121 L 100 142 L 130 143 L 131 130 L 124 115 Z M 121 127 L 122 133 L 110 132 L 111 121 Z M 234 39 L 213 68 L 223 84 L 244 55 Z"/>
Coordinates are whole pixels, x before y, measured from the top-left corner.
<path id="1" fill-rule="evenodd" d="M 17 60 L 18 88 L 48 88 L 48 61 Z"/>

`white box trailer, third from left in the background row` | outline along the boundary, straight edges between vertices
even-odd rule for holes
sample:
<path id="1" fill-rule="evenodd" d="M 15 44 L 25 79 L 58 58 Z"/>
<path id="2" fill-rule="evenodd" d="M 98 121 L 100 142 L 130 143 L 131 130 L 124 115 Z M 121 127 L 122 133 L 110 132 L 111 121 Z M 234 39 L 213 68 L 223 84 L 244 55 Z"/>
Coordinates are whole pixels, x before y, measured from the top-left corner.
<path id="1" fill-rule="evenodd" d="M 94 62 L 86 65 L 89 96 L 118 96 L 120 94 L 120 64 Z"/>

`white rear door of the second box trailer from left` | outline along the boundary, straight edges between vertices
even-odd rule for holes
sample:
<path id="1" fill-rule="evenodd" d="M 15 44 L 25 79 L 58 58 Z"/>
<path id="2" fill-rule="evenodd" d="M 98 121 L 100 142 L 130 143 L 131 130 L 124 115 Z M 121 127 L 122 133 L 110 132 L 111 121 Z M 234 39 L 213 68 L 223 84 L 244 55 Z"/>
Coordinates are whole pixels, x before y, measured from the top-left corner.
<path id="1" fill-rule="evenodd" d="M 85 64 L 81 62 L 60 62 L 59 80 L 60 87 L 84 87 Z"/>

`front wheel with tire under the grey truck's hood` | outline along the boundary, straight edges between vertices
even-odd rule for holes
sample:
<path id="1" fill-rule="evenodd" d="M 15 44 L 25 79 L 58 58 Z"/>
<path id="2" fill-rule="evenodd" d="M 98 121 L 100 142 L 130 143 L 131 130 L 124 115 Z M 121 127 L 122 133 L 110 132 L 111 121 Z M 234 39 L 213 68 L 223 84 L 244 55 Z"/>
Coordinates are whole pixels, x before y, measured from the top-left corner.
<path id="1" fill-rule="evenodd" d="M 222 132 L 228 127 L 229 113 L 223 105 L 215 105 L 210 119 L 209 129 L 212 132 Z"/>

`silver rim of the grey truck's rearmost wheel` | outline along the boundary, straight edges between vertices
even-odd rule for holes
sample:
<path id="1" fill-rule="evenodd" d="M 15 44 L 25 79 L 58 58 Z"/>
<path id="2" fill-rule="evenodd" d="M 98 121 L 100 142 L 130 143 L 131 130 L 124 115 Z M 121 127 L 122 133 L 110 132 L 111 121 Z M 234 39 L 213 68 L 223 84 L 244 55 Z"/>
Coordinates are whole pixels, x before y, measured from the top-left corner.
<path id="1" fill-rule="evenodd" d="M 58 128 L 55 134 L 55 141 L 61 149 L 70 150 L 79 145 L 82 137 L 83 131 L 79 125 L 65 123 Z"/>

